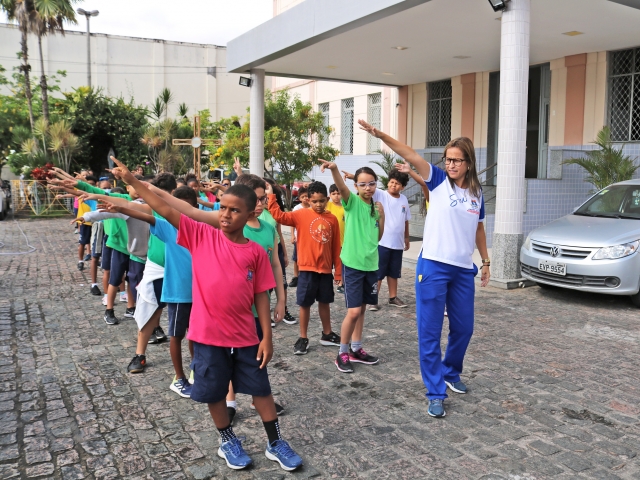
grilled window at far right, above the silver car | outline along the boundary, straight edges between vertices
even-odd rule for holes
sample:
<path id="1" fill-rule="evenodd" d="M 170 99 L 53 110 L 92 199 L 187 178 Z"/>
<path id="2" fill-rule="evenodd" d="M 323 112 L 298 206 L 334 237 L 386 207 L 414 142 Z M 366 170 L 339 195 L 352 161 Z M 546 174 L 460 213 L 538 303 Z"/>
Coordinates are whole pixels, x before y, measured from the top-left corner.
<path id="1" fill-rule="evenodd" d="M 611 139 L 640 141 L 640 48 L 611 54 L 609 89 Z"/>

